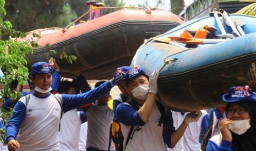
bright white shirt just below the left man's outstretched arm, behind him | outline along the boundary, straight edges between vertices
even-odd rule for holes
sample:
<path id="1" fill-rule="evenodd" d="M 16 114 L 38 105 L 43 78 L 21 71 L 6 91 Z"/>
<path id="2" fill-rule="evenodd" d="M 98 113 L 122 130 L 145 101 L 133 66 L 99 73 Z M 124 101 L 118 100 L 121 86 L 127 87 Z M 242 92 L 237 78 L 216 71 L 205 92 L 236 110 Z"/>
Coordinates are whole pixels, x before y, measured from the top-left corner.
<path id="1" fill-rule="evenodd" d="M 77 109 L 72 109 L 63 115 L 61 130 L 58 132 L 60 151 L 79 149 L 80 127 L 80 112 Z"/>

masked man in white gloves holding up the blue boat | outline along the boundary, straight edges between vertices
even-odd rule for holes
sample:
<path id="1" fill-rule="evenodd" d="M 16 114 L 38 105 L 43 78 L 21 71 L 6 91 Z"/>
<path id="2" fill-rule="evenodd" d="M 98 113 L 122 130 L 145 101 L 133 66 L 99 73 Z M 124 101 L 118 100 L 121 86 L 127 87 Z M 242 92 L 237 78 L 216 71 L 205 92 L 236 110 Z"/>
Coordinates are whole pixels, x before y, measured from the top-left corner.
<path id="1" fill-rule="evenodd" d="M 201 112 L 189 113 L 177 130 L 172 113 L 155 101 L 158 71 L 150 77 L 139 66 L 125 77 L 133 97 L 117 106 L 117 118 L 124 136 L 124 150 L 167 150 L 175 147 L 189 123 L 198 121 Z"/>

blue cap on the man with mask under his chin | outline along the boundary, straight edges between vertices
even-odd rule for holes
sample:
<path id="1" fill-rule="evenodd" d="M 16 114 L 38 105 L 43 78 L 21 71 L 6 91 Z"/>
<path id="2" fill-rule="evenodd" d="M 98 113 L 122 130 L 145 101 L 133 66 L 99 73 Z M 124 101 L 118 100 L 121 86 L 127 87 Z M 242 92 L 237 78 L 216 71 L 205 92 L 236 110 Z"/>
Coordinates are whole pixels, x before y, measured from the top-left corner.
<path id="1" fill-rule="evenodd" d="M 31 67 L 31 71 L 29 73 L 29 78 L 31 75 L 35 75 L 37 73 L 50 73 L 54 69 L 53 66 L 51 66 L 47 62 L 36 62 L 34 65 Z"/>

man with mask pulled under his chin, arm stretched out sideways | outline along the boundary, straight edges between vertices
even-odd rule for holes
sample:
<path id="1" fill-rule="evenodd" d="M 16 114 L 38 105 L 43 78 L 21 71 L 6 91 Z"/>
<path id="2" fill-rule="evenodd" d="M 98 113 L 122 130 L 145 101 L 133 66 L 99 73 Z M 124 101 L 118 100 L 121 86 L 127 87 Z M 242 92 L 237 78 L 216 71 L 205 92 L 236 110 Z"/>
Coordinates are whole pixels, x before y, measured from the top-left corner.
<path id="1" fill-rule="evenodd" d="M 29 78 L 34 82 L 35 90 L 29 99 L 21 97 L 14 107 L 7 125 L 9 150 L 59 150 L 57 133 L 62 112 L 94 102 L 112 88 L 111 79 L 84 94 L 53 95 L 50 93 L 52 71 L 53 67 L 47 62 L 32 65 Z M 57 97 L 61 101 L 58 102 Z"/>

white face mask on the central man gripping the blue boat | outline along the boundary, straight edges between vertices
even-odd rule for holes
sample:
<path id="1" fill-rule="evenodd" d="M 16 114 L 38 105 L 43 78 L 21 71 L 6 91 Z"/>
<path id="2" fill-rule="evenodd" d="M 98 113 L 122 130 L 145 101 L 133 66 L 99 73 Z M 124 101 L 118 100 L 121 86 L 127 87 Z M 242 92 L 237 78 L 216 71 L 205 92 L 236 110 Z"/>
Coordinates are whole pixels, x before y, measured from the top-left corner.
<path id="1" fill-rule="evenodd" d="M 149 93 L 149 85 L 141 84 L 132 90 L 132 94 L 135 98 L 139 100 L 144 100 L 148 96 Z"/>

